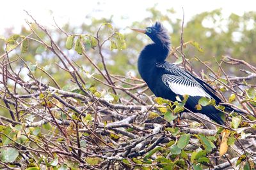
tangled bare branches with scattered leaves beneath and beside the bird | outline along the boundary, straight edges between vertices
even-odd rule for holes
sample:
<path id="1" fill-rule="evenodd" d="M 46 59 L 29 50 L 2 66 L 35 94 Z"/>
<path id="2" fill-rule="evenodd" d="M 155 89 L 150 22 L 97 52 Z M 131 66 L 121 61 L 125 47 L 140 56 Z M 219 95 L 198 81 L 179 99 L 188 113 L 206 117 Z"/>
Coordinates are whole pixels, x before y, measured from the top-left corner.
<path id="1" fill-rule="evenodd" d="M 221 127 L 197 113 L 182 113 L 179 118 L 181 121 L 177 124 L 173 120 L 179 114 L 173 111 L 170 106 L 172 104 L 165 100 L 155 102 L 154 96 L 146 93 L 148 88 L 142 80 L 109 72 L 103 52 L 104 44 L 110 41 L 112 48 L 125 48 L 122 34 L 113 31 L 102 41 L 100 27 L 96 36 L 87 36 L 90 46 L 99 52 L 97 57 L 102 64 L 99 67 L 99 63 L 85 52 L 83 36 L 68 34 L 58 27 L 72 41 L 75 36 L 78 37 L 75 50 L 82 60 L 87 60 L 97 71 L 99 76 L 89 76 L 97 81 L 99 89 L 109 89 L 104 94 L 93 86 L 86 86 L 88 80 L 84 75 L 88 73 L 70 59 L 54 41 L 51 32 L 29 16 L 47 36 L 47 41 L 41 38 L 29 22 L 31 34 L 19 36 L 20 41 L 13 37 L 6 40 L 9 48 L 6 47 L 6 53 L 0 57 L 0 95 L 3 101 L 0 106 L 7 115 L 0 116 L 2 167 L 118 169 L 143 166 L 147 169 L 221 169 L 235 167 L 236 164 L 253 166 L 256 160 L 254 66 L 244 60 L 223 57 L 221 62 L 216 61 L 219 66 L 216 72 L 196 58 L 212 73 L 208 76 L 201 72 L 200 78 L 211 84 L 226 104 L 247 113 L 242 116 L 226 113 L 227 121 L 231 122 L 230 127 L 226 128 L 232 130 L 228 136 L 230 151 L 220 157 L 218 148 L 221 143 L 220 132 L 223 130 Z M 110 24 L 104 25 L 113 29 Z M 24 49 L 28 39 L 44 46 L 58 58 L 56 65 L 68 73 L 75 88 L 61 89 L 61 82 L 56 81 L 45 69 L 29 65 L 19 55 L 16 55 L 17 59 L 9 56 L 19 46 Z M 196 46 L 193 42 L 183 43 L 182 40 L 182 45 L 173 48 L 170 56 L 177 59 L 182 57 L 186 69 L 198 76 L 182 52 L 182 47 L 188 44 Z M 229 64 L 243 65 L 241 71 L 246 76 L 229 76 L 223 70 L 224 64 L 227 64 L 225 67 Z M 17 69 L 17 66 L 20 67 Z M 29 80 L 24 80 L 21 75 L 24 69 L 29 72 Z M 47 82 L 35 73 L 35 69 L 47 75 Z M 228 101 L 225 98 L 227 91 L 232 92 Z M 4 157 L 5 154 L 13 157 Z"/>

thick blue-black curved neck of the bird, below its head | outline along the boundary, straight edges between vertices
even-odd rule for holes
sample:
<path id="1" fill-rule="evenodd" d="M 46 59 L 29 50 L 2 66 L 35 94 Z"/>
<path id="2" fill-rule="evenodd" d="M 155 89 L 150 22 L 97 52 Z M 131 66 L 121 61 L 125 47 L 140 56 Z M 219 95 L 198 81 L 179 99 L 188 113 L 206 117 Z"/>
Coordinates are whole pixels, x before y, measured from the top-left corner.
<path id="1" fill-rule="evenodd" d="M 143 80 L 153 80 L 149 77 L 150 73 L 154 72 L 157 62 L 164 62 L 168 56 L 169 48 L 166 46 L 160 46 L 156 43 L 145 46 L 141 51 L 138 59 L 138 70 Z"/>

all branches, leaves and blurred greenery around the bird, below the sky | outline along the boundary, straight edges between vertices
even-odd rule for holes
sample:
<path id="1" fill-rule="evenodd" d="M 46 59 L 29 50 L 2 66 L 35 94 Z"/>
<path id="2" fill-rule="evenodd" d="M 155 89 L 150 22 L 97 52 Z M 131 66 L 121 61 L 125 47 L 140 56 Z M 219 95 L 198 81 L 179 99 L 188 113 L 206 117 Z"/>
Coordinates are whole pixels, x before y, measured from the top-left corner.
<path id="1" fill-rule="evenodd" d="M 92 18 L 81 31 L 67 24 L 47 32 L 32 17 L 29 30 L 0 37 L 1 167 L 206 169 L 227 162 L 255 167 L 255 24 L 248 28 L 248 22 L 256 14 L 232 14 L 226 25 L 220 10 L 196 15 L 184 27 L 181 51 L 181 20 L 168 17 L 174 11 L 148 11 L 152 20 L 162 16 L 172 25 L 168 60 L 195 76 L 204 68 L 198 77 L 244 115 L 225 113 L 224 129 L 189 111 L 180 115 L 186 95 L 177 101 L 152 97 L 136 71 L 136 56 L 148 40 L 122 34 L 111 19 Z M 143 23 L 133 25 L 146 27 Z M 196 109 L 209 104 L 216 105 L 202 97 Z M 226 111 L 225 106 L 216 107 Z"/>

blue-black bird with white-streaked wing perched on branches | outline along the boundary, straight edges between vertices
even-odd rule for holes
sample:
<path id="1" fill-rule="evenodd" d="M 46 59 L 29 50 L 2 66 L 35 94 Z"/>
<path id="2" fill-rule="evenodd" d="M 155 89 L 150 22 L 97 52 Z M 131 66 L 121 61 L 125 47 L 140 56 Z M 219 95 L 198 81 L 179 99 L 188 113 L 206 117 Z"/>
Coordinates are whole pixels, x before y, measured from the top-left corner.
<path id="1" fill-rule="evenodd" d="M 175 64 L 165 61 L 170 51 L 170 37 L 163 25 L 156 22 L 146 29 L 132 30 L 143 32 L 154 41 L 141 51 L 138 59 L 138 70 L 141 78 L 156 97 L 177 101 L 176 96 L 180 96 L 180 99 L 182 99 L 182 96 L 189 95 L 185 108 L 195 113 L 199 112 L 207 115 L 218 124 L 224 125 L 220 116 L 221 111 L 214 106 L 202 106 L 202 110 L 196 110 L 195 108 L 201 97 L 214 99 L 216 104 L 221 103 L 221 99 L 214 94 L 215 90 L 205 81 L 196 78 Z M 227 111 L 237 111 L 227 105 L 225 109 Z"/>

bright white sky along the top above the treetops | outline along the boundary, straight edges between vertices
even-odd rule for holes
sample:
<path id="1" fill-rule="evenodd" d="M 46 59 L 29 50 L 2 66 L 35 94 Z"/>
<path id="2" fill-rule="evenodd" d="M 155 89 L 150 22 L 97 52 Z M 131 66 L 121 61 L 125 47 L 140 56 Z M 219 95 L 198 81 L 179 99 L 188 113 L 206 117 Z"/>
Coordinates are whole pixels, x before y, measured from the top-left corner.
<path id="1" fill-rule="evenodd" d="M 113 21 L 116 25 L 126 27 L 133 21 L 141 21 L 148 17 L 146 11 L 157 4 L 157 9 L 166 11 L 173 8 L 177 11 L 177 17 L 182 18 L 182 7 L 185 11 L 185 21 L 190 17 L 201 13 L 202 11 L 211 11 L 216 8 L 222 8 L 225 16 L 230 13 L 243 15 L 244 11 L 255 10 L 256 1 L 224 1 L 224 0 L 72 0 L 72 1 L 54 1 L 54 0 L 13 0 L 1 1 L 1 25 L 0 35 L 4 29 L 14 27 L 14 32 L 19 33 L 20 25 L 26 25 L 25 18 L 29 18 L 23 10 L 29 11 L 33 17 L 43 25 L 52 25 L 52 17 L 58 24 L 70 22 L 72 25 L 80 25 L 84 22 L 86 15 L 93 17 L 108 17 L 113 15 Z M 124 18 L 122 18 L 124 17 Z"/>

